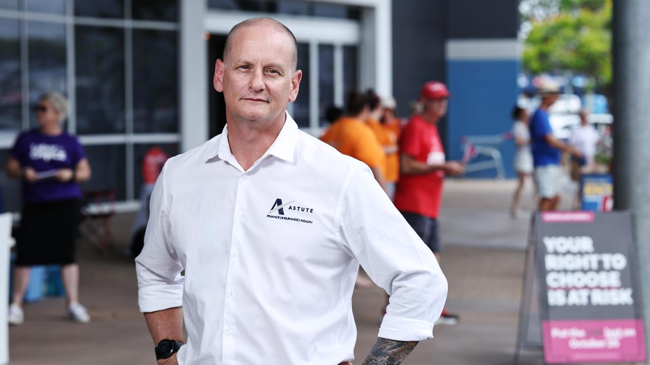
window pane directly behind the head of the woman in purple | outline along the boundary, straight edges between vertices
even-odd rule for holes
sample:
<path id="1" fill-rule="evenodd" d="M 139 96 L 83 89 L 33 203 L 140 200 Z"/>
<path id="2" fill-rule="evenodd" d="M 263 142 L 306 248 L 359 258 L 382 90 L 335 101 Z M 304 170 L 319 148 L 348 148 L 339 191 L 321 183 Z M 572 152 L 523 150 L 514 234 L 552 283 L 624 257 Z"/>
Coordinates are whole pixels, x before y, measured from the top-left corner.
<path id="1" fill-rule="evenodd" d="M 36 106 L 46 92 L 66 95 L 66 25 L 29 21 L 27 23 L 27 55 L 29 55 L 29 105 Z M 37 125 L 36 114 L 30 113 L 30 125 Z"/>

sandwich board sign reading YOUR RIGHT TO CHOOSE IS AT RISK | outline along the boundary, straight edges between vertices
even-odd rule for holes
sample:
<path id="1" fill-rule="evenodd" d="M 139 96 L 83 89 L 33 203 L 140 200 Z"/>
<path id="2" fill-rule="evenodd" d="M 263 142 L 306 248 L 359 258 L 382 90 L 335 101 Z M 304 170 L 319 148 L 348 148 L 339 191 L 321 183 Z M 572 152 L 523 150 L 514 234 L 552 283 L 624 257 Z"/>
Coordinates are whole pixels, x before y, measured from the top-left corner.
<path id="1" fill-rule="evenodd" d="M 531 242 L 517 350 L 528 331 L 522 321 L 536 320 L 526 307 L 537 297 L 546 364 L 645 361 L 629 212 L 537 213 Z"/>

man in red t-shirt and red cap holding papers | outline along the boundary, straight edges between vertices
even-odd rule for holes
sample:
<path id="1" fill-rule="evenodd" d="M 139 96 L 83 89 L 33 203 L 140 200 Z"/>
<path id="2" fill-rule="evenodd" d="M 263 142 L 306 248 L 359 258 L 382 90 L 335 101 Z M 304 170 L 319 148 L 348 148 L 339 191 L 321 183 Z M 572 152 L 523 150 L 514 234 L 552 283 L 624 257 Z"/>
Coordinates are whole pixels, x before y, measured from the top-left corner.
<path id="1" fill-rule="evenodd" d="M 447 113 L 449 92 L 442 82 L 424 84 L 422 113 L 409 120 L 400 135 L 400 179 L 395 206 L 440 260 L 438 214 L 445 175 L 460 175 L 465 167 L 445 160 L 437 123 Z M 443 311 L 439 324 L 454 325 L 458 316 Z"/>

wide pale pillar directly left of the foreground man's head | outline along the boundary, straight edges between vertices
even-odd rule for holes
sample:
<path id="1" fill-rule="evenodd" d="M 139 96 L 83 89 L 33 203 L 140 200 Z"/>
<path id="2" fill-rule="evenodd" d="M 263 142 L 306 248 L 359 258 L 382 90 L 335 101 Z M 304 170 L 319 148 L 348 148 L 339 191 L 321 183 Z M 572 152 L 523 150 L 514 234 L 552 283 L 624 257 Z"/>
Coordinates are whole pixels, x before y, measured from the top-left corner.
<path id="1" fill-rule="evenodd" d="M 192 149 L 208 138 L 207 42 L 203 38 L 205 1 L 180 1 L 181 53 L 180 117 L 181 151 Z"/>

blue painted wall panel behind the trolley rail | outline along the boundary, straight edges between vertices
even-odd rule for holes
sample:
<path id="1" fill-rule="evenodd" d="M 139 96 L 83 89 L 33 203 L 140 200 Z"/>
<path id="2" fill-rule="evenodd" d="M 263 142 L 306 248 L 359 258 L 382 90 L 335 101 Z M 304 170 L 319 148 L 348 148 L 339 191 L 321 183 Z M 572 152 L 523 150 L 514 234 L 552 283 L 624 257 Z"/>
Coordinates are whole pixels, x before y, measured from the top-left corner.
<path id="1" fill-rule="evenodd" d="M 449 99 L 445 147 L 449 160 L 462 157 L 461 138 L 510 131 L 510 112 L 517 102 L 517 60 L 447 60 Z M 512 168 L 514 142 L 499 146 L 506 176 Z M 494 177 L 495 171 L 472 173 L 468 177 Z"/>

